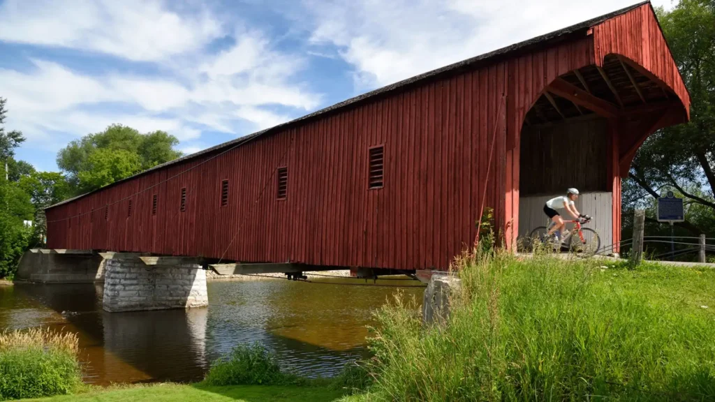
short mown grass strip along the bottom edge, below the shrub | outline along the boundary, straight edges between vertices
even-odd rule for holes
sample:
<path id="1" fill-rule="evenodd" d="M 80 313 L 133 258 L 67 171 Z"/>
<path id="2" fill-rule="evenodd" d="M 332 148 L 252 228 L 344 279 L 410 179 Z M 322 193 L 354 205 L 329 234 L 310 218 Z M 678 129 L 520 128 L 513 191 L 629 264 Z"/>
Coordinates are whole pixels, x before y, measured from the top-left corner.
<path id="1" fill-rule="evenodd" d="M 128 386 L 122 388 L 97 389 L 79 395 L 54 396 L 42 399 L 24 399 L 23 401 L 295 401 L 321 402 L 335 401 L 342 396 L 342 391 L 326 387 L 300 386 L 199 386 L 179 384 L 157 384 L 152 386 Z"/>

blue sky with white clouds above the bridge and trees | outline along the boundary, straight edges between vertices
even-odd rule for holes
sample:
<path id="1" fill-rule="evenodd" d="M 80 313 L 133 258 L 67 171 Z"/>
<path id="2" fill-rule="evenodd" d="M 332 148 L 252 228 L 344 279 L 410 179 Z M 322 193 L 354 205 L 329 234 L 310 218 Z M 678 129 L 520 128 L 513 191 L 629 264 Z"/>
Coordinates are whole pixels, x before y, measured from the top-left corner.
<path id="1" fill-rule="evenodd" d="M 192 153 L 636 3 L 0 0 L 5 127 L 38 170 L 115 123 Z"/>

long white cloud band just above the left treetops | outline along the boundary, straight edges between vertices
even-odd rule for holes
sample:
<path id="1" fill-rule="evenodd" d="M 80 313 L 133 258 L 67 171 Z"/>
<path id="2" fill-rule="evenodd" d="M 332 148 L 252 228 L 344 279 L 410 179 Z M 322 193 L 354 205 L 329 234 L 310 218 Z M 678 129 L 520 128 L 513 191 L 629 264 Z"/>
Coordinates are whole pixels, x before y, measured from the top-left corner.
<path id="1" fill-rule="evenodd" d="M 79 137 L 121 123 L 141 132 L 162 129 L 183 141 L 200 136 L 198 129 L 188 128 L 191 127 L 188 123 L 229 133 L 234 132 L 232 127 L 240 121 L 264 129 L 290 117 L 262 106 L 279 104 L 310 109 L 318 99 L 295 87 L 250 79 L 232 83 L 230 77 L 221 77 L 197 82 L 192 88 L 141 77 L 88 77 L 40 60 L 34 64 L 36 68 L 28 72 L 0 69 L 0 94 L 10 99 L 8 123 L 24 130 L 29 139 L 44 140 L 46 131 L 70 132 Z M 84 106 L 102 102 L 134 104 L 144 112 L 83 111 Z M 174 117 L 157 117 L 154 115 L 157 113 Z"/>

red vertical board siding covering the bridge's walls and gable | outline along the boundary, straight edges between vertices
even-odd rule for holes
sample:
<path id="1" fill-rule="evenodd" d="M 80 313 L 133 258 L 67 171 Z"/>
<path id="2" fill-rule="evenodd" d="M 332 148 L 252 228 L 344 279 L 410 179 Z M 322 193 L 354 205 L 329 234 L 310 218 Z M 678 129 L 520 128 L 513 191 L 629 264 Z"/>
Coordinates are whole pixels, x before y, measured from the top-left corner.
<path id="1" fill-rule="evenodd" d="M 643 59 L 637 44 L 610 42 L 620 37 L 611 32 L 638 32 L 652 48 L 646 59 L 657 67 L 654 74 L 686 96 L 677 70 L 658 67 L 664 41 L 659 31 L 651 31 L 648 13 L 650 6 L 642 6 L 596 26 L 591 35 L 571 35 L 467 71 L 423 79 L 220 155 L 201 155 L 52 207 L 48 246 L 444 269 L 472 244 L 483 194 L 486 207 L 494 209 L 496 227 L 513 245 L 521 127 L 546 85 L 611 52 Z M 631 19 L 645 19 L 648 30 L 623 25 Z M 369 150 L 378 145 L 384 147 L 383 187 L 368 190 Z M 285 200 L 276 199 L 278 167 L 288 171 Z M 609 177 L 615 177 L 616 167 Z M 230 182 L 227 207 L 220 207 L 222 180 Z M 183 187 L 185 212 L 179 210 Z M 615 179 L 613 189 L 614 194 L 620 190 Z M 98 219 L 107 204 L 109 219 Z"/>

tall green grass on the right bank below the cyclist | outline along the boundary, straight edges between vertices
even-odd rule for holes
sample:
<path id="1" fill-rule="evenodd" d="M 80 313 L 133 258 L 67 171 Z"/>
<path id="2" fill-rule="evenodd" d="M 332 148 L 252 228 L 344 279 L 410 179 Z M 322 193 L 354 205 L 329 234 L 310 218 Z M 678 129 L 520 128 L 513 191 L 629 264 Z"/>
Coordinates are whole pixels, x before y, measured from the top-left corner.
<path id="1" fill-rule="evenodd" d="M 423 328 L 400 296 L 377 314 L 369 400 L 715 398 L 715 315 L 699 305 L 715 273 L 498 253 L 457 264 L 449 325 Z"/>

